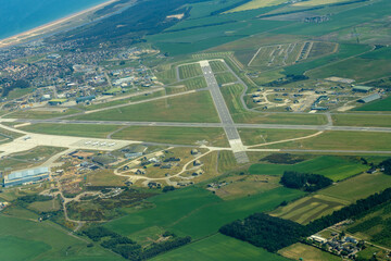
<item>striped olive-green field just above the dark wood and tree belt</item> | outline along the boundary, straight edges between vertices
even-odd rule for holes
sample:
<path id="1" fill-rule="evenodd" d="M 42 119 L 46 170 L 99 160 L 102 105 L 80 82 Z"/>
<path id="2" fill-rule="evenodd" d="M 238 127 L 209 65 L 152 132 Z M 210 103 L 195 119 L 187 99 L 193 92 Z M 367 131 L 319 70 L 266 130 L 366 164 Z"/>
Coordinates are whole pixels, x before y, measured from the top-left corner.
<path id="1" fill-rule="evenodd" d="M 349 203 L 350 201 L 333 197 L 314 195 L 301 198 L 286 207 L 280 207 L 270 214 L 300 224 L 307 224 L 313 220 L 331 214 L 333 211 L 340 210 Z"/>

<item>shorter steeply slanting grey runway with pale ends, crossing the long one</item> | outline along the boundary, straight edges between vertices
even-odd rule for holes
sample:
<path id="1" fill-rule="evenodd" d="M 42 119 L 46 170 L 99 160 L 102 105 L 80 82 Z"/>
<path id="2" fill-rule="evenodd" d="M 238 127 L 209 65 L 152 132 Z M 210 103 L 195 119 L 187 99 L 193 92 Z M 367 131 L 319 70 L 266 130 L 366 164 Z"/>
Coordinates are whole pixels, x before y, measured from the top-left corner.
<path id="1" fill-rule="evenodd" d="M 207 61 L 201 61 L 200 64 L 229 145 L 232 148 L 235 158 L 238 163 L 247 163 L 250 160 L 245 153 L 245 148 L 241 141 L 238 129 L 235 126 L 234 120 L 229 113 L 228 107 L 224 100 L 212 69 Z"/>

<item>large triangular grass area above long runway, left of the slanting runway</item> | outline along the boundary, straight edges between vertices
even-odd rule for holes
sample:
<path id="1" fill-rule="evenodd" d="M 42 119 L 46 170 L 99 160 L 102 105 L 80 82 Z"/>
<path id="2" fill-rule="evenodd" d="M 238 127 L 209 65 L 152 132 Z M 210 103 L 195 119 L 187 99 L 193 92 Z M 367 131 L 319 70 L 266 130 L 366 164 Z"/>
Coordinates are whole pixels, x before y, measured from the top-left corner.
<path id="1" fill-rule="evenodd" d="M 73 119 L 87 121 L 219 122 L 209 91 L 94 112 Z"/>

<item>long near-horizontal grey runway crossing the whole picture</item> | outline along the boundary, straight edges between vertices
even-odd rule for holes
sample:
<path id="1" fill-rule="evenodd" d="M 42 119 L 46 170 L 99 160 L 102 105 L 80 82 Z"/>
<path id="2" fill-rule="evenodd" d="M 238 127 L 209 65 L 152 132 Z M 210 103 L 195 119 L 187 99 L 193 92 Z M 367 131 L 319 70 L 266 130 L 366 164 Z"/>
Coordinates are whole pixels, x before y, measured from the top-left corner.
<path id="1" fill-rule="evenodd" d="M 356 127 L 356 126 L 330 126 L 330 125 L 288 125 L 288 124 L 247 124 L 247 123 L 176 123 L 176 122 L 126 122 L 126 121 L 80 121 L 80 120 L 26 120 L 7 119 L 4 122 L 21 123 L 59 123 L 59 124 L 102 124 L 102 125 L 126 125 L 126 126 L 162 126 L 162 127 L 230 127 L 236 128 L 279 128 L 279 129 L 312 129 L 312 130 L 344 130 L 344 132 L 374 132 L 391 133 L 391 127 Z M 1 119 L 0 119 L 1 122 Z M 235 130 L 232 130 L 235 132 Z"/>

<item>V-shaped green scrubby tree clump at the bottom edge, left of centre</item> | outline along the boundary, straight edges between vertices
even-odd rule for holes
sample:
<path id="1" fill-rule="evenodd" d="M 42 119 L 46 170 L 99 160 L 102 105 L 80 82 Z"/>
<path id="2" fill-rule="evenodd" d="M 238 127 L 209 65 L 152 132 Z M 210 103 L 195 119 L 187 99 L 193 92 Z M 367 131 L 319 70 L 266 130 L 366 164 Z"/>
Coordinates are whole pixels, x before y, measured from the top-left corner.
<path id="1" fill-rule="evenodd" d="M 159 244 L 153 243 L 143 248 L 130 238 L 121 236 L 102 226 L 90 227 L 83 233 L 93 241 L 100 241 L 102 238 L 110 237 L 102 241 L 101 246 L 133 261 L 147 260 L 191 241 L 191 237 L 177 237 L 175 234 L 166 232 L 163 234 L 163 237 L 168 237 L 166 240 Z"/>

